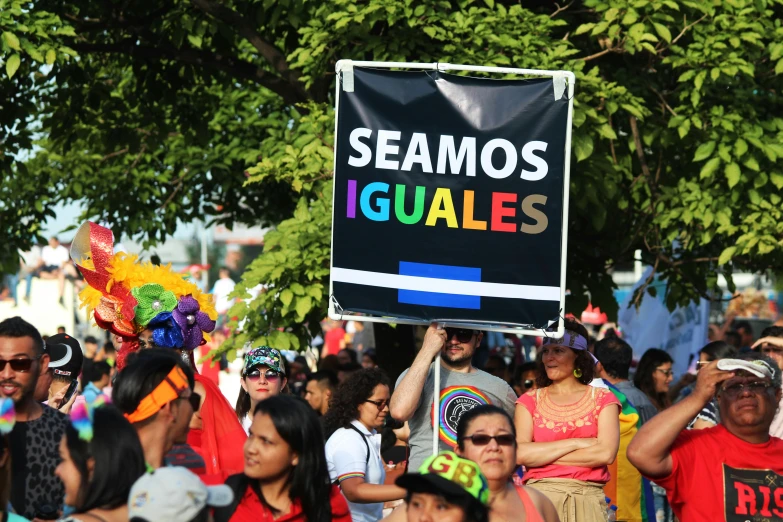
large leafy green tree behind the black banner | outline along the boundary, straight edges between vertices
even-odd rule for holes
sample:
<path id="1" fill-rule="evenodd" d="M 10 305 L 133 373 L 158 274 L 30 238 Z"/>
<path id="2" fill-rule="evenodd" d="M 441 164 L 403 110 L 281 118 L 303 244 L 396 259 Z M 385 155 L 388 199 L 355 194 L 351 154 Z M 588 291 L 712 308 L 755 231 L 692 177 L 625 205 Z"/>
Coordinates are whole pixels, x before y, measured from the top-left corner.
<path id="1" fill-rule="evenodd" d="M 27 162 L 60 197 L 148 241 L 177 218 L 293 212 L 239 285 L 273 291 L 237 306 L 237 345 L 269 335 L 296 347 L 324 314 L 330 107 L 345 57 L 576 73 L 572 310 L 589 293 L 616 311 L 608 271 L 636 249 L 667 280 L 669 306 L 709 295 L 720 271 L 781 261 L 783 0 L 36 5 L 77 35 L 66 43 L 79 59 L 41 97 L 47 134 Z"/>

